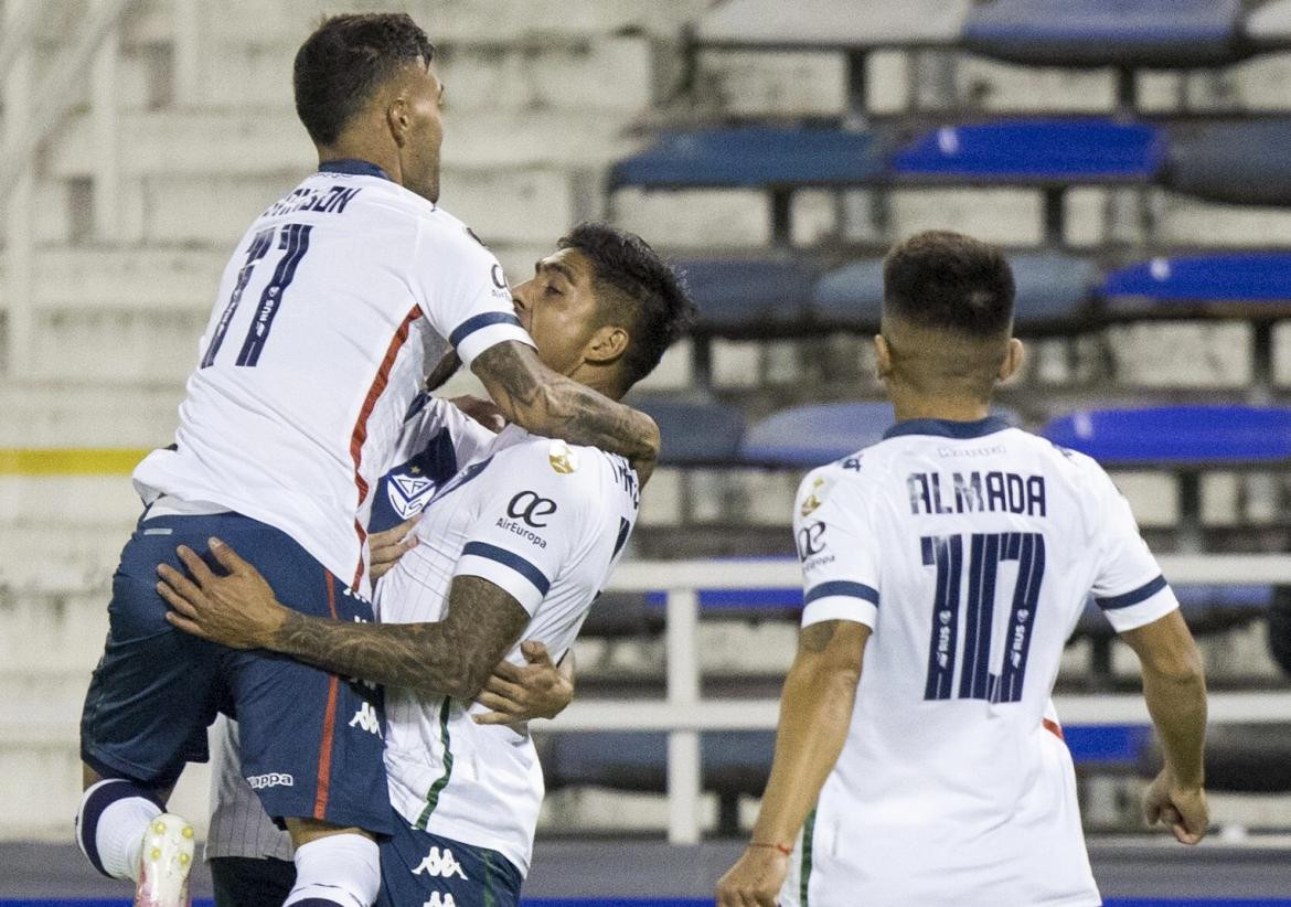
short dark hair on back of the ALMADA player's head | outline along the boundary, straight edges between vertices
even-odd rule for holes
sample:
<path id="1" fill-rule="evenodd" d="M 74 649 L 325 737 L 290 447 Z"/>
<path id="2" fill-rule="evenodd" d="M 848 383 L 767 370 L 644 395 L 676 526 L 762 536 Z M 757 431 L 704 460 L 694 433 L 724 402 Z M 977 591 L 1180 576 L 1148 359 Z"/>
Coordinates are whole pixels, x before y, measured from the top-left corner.
<path id="1" fill-rule="evenodd" d="M 990 243 L 917 234 L 883 262 L 883 311 L 920 328 L 997 337 L 1013 323 L 1013 272 Z"/>

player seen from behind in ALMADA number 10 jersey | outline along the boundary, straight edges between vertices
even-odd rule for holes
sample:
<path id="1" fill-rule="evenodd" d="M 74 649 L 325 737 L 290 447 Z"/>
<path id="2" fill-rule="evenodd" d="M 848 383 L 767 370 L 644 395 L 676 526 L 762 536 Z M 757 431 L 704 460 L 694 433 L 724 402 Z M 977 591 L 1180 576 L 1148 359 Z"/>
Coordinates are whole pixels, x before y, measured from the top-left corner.
<path id="1" fill-rule="evenodd" d="M 1092 595 L 1137 653 L 1166 756 L 1144 814 L 1185 844 L 1207 823 L 1201 658 L 1106 473 L 989 414 L 1022 360 L 1001 252 L 920 234 L 883 277 L 897 423 L 798 493 L 798 655 L 718 902 L 1093 907 L 1050 703 L 1062 646 Z"/>

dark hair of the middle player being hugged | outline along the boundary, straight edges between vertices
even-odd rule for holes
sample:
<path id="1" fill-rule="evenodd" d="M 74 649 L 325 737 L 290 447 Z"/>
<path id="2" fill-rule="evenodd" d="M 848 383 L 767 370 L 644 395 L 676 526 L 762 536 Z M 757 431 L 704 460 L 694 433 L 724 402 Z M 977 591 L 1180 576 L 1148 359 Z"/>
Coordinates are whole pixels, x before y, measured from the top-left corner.
<path id="1" fill-rule="evenodd" d="M 636 234 L 605 223 L 580 223 L 556 245 L 587 257 L 593 280 L 602 290 L 600 304 L 608 306 L 608 316 L 626 321 L 624 326 L 631 335 L 621 360 L 626 391 L 689 332 L 695 303 L 676 271 Z"/>

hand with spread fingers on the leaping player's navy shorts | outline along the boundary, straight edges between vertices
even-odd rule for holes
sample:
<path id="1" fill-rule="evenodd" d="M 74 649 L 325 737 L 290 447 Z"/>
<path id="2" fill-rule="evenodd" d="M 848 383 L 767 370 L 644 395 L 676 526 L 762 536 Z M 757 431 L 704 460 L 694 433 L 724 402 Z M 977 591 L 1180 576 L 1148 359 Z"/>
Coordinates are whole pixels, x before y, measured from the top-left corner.
<path id="1" fill-rule="evenodd" d="M 158 566 L 158 592 L 173 610 L 165 619 L 186 633 L 232 649 L 263 649 L 283 626 L 287 609 L 278 603 L 259 572 L 218 538 L 209 541 L 210 553 L 227 572 L 216 575 L 187 546 L 179 560 L 188 575 L 167 564 Z M 191 577 L 191 579 L 190 579 Z"/>

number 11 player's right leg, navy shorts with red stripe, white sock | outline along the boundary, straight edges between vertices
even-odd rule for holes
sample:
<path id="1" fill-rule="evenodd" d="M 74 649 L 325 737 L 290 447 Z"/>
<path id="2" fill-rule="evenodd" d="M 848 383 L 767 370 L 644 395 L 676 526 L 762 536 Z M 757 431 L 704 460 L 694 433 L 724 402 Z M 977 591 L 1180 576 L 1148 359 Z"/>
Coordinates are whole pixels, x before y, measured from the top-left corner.
<path id="1" fill-rule="evenodd" d="M 222 535 L 249 552 L 279 600 L 341 621 L 371 621 L 352 595 L 296 542 L 267 526 Z M 252 537 L 253 535 L 253 537 Z M 376 899 L 389 833 L 380 690 L 265 653 L 238 653 L 227 673 L 243 775 L 296 846 L 287 904 L 363 907 Z"/>

